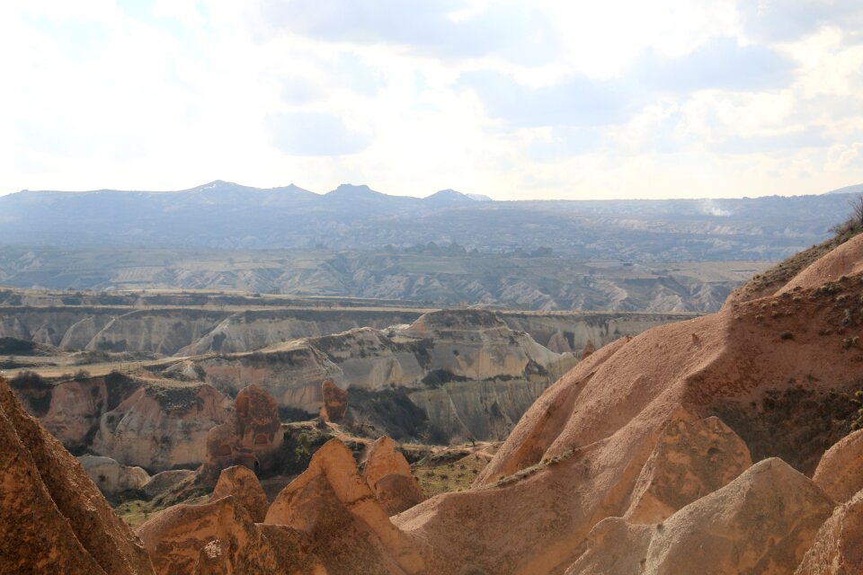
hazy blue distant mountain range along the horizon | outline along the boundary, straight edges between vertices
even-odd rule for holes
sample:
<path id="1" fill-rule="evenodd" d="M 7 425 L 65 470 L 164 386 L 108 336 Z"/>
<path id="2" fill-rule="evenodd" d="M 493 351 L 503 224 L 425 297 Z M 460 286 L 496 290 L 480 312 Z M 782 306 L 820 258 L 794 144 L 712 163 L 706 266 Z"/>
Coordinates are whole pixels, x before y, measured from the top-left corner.
<path id="1" fill-rule="evenodd" d="M 21 191 L 0 197 L 0 244 L 100 248 L 467 251 L 540 248 L 622 261 L 778 260 L 817 243 L 847 194 L 755 199 L 493 201 L 440 190 L 423 199 L 343 184 L 326 194 L 227 181 L 180 191 Z M 840 193 L 841 192 L 841 193 Z"/>

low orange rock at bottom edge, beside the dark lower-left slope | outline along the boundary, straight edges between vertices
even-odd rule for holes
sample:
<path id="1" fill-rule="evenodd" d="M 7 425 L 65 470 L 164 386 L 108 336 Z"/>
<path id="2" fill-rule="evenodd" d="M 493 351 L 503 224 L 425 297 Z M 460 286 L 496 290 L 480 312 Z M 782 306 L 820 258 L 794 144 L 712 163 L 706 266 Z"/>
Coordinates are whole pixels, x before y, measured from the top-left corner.
<path id="1" fill-rule="evenodd" d="M 233 496 L 165 509 L 138 535 L 163 575 L 278 572 L 267 538 Z"/>

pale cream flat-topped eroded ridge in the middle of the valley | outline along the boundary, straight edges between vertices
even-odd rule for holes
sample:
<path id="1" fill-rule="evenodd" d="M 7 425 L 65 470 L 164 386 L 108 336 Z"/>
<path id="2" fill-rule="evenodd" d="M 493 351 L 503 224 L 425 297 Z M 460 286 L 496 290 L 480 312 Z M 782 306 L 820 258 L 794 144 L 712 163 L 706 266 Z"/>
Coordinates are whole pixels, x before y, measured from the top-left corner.
<path id="1" fill-rule="evenodd" d="M 280 406 L 307 413 L 320 411 L 320 382 L 327 379 L 349 395 L 399 394 L 399 401 L 426 413 L 415 427 L 431 428 L 434 437 L 447 441 L 503 438 L 537 394 L 575 361 L 511 330 L 496 314 L 460 310 L 424 314 L 384 331 L 364 328 L 204 358 L 198 366 L 219 389 L 254 383 Z M 404 435 L 405 426 L 392 413 L 368 411 L 362 401 L 351 404 L 360 419 L 373 420 L 384 433 L 417 438 Z M 405 406 L 393 412 L 405 413 Z"/>

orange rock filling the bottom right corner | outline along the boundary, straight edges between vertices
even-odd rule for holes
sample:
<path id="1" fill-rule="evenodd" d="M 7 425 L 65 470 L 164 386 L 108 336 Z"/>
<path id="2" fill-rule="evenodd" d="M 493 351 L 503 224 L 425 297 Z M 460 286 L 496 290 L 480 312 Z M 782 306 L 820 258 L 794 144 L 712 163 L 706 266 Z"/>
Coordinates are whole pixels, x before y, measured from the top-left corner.
<path id="1" fill-rule="evenodd" d="M 795 575 L 863 573 L 863 491 L 840 507 L 819 529 Z"/>

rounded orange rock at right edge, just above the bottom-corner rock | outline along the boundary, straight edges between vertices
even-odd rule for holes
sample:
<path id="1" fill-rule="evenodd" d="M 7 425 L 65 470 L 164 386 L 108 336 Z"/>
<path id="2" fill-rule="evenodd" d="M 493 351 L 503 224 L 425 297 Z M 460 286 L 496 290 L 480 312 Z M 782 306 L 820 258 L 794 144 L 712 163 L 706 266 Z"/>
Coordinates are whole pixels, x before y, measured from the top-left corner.
<path id="1" fill-rule="evenodd" d="M 863 429 L 828 449 L 812 479 L 837 503 L 844 503 L 863 490 Z"/>

